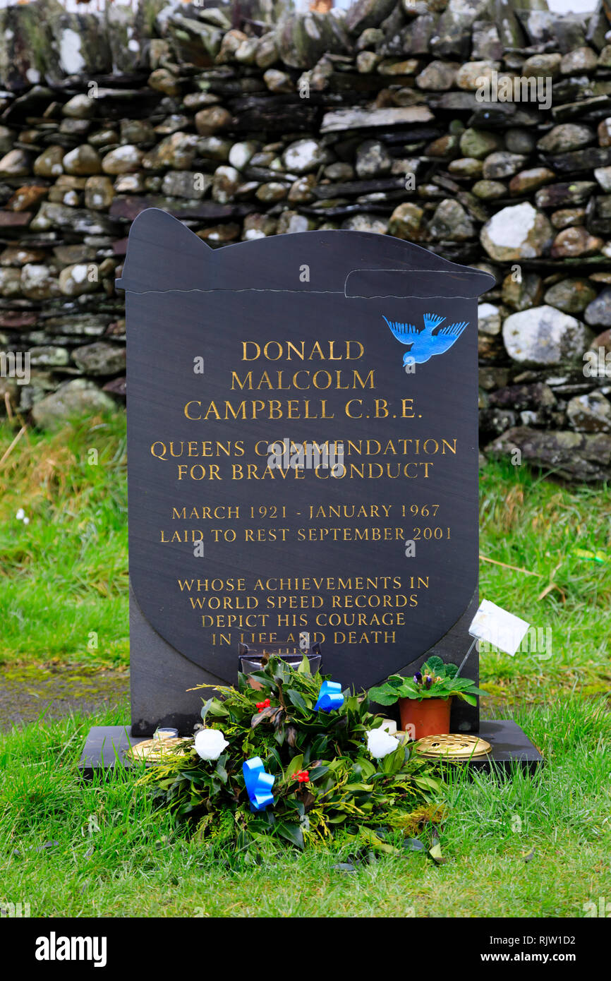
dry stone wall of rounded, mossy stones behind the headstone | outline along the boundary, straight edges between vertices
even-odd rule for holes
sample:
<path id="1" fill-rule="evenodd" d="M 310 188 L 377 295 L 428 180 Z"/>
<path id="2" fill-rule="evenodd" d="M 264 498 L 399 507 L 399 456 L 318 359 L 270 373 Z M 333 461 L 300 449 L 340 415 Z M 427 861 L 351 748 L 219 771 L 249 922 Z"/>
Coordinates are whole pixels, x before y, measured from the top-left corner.
<path id="1" fill-rule="evenodd" d="M 610 478 L 611 6 L 544 8 L 0 11 L 0 351 L 30 364 L 0 411 L 121 404 L 114 280 L 155 206 L 212 247 L 355 229 L 489 270 L 484 451 Z"/>

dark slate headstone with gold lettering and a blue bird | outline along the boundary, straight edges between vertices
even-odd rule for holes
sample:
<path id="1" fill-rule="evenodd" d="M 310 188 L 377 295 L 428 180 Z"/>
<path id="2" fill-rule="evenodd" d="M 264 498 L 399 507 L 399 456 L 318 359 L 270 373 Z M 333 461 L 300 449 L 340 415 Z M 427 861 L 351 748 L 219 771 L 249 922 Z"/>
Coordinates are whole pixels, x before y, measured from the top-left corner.
<path id="1" fill-rule="evenodd" d="M 212 250 L 162 211 L 136 218 L 118 281 L 134 734 L 189 731 L 186 689 L 234 682 L 240 642 L 307 631 L 357 689 L 432 649 L 462 659 L 492 284 L 386 235 Z M 453 728 L 477 724 L 461 702 Z"/>

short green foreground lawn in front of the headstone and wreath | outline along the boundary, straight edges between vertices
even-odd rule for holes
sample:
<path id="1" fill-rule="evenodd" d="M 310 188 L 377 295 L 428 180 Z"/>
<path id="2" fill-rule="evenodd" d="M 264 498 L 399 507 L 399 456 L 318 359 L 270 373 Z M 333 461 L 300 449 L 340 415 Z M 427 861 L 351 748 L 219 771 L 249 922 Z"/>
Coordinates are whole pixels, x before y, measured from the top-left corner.
<path id="1" fill-rule="evenodd" d="M 538 776 L 470 782 L 453 771 L 444 864 L 407 852 L 352 873 L 332 867 L 349 856 L 341 846 L 281 849 L 255 866 L 214 859 L 125 773 L 79 782 L 90 721 L 32 725 L 0 749 L 0 905 L 28 902 L 32 916 L 568 917 L 609 897 L 611 725 L 600 700 L 522 717 L 548 760 Z M 57 845 L 36 851 L 47 842 Z"/>

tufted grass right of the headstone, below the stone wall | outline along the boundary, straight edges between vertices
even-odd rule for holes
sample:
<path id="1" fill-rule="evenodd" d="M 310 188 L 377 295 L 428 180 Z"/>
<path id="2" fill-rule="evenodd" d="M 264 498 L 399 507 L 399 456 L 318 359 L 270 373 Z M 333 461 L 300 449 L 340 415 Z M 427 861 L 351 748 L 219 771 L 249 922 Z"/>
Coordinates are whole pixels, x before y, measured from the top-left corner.
<path id="1" fill-rule="evenodd" d="M 527 467 L 491 463 L 481 477 L 480 514 L 481 554 L 505 563 L 481 561 L 481 597 L 551 637 L 549 657 L 484 653 L 481 670 L 490 689 L 530 701 L 546 695 L 550 684 L 586 694 L 608 691 L 610 490 L 560 487 Z M 602 551 L 606 561 L 579 551 Z"/>

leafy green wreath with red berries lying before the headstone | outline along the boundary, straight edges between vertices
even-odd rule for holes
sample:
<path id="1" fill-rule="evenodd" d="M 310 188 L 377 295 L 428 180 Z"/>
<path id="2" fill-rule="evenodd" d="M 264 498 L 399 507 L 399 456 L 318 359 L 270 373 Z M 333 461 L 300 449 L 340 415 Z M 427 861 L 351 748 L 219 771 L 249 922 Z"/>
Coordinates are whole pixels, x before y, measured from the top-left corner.
<path id="1" fill-rule="evenodd" d="M 217 689 L 219 697 L 204 702 L 206 727 L 229 743 L 218 759 L 201 759 L 184 740 L 148 767 L 140 783 L 190 821 L 202 841 L 251 857 L 270 836 L 304 848 L 338 832 L 346 842 L 369 849 L 379 842 L 381 851 L 396 852 L 423 805 L 424 813 L 427 804 L 434 810 L 440 781 L 430 763 L 398 741 L 382 759 L 372 757 L 367 734 L 382 717 L 372 714 L 366 695 L 346 691 L 340 708 L 315 709 L 324 680 L 310 674 L 305 658 L 295 669 L 270 657 L 260 671 L 240 674 L 237 688 Z M 276 777 L 274 804 L 254 813 L 242 776 L 244 760 L 253 756 Z"/>

